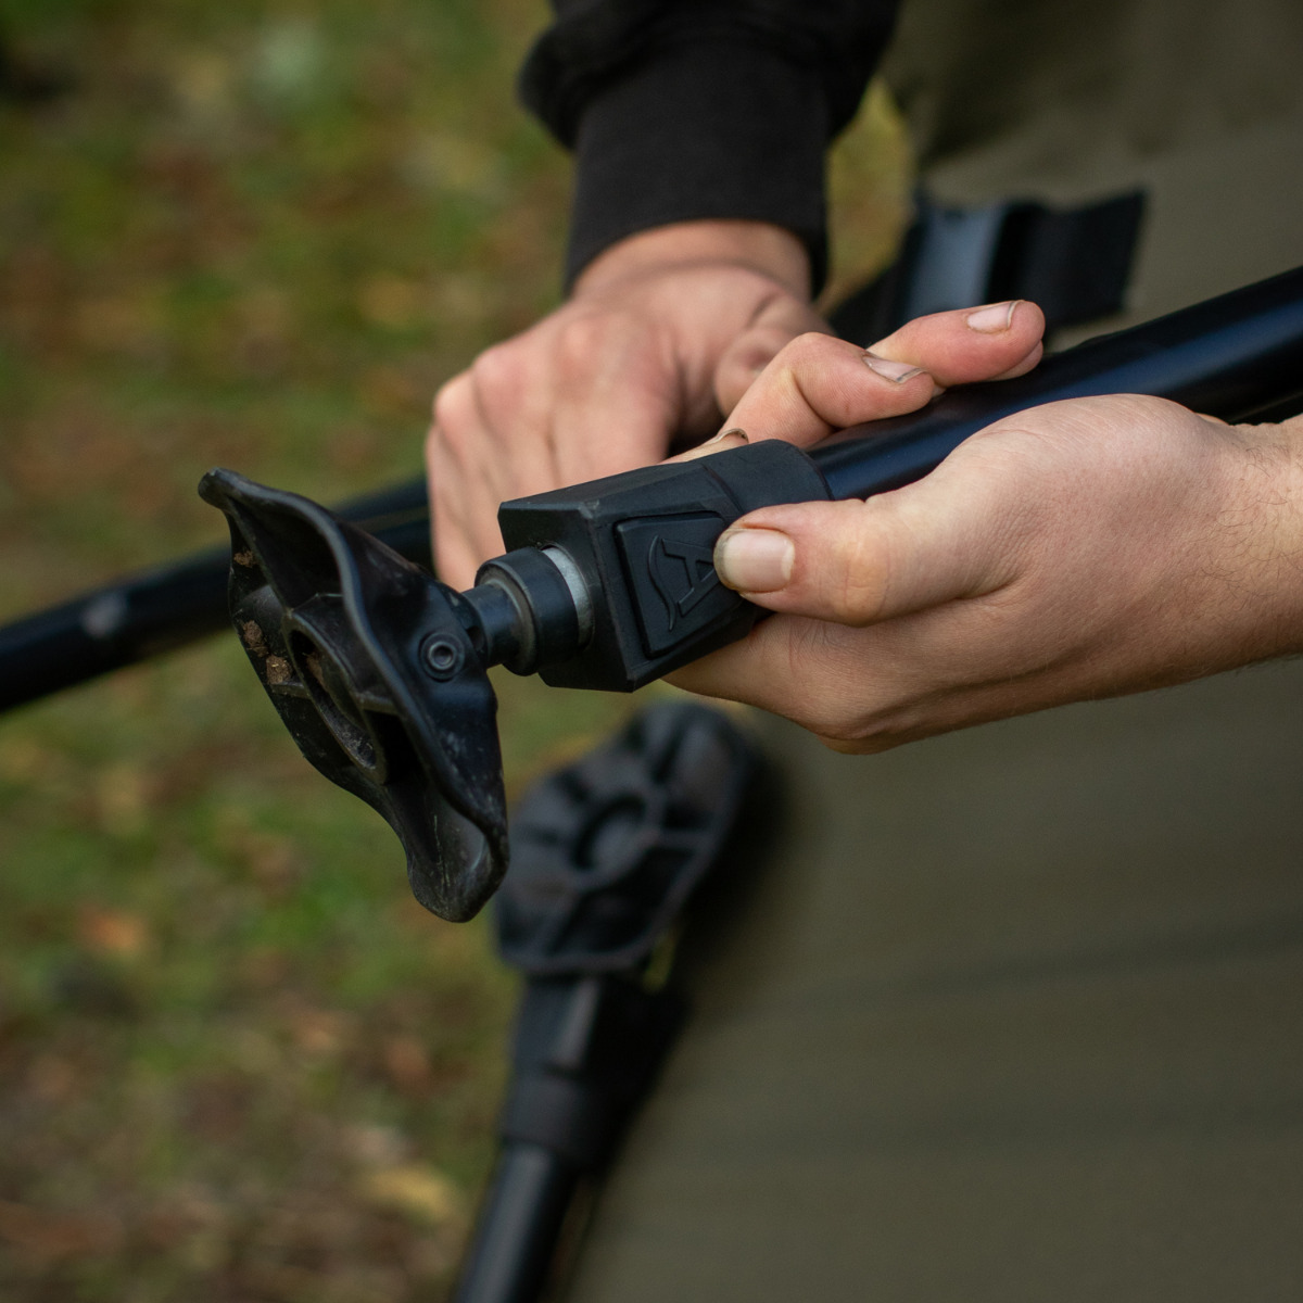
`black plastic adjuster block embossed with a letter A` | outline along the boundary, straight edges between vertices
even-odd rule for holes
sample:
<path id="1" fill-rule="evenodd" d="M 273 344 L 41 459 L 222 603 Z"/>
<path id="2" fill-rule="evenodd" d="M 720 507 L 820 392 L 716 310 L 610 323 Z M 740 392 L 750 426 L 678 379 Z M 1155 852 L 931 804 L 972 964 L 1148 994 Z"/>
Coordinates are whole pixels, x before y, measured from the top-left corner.
<path id="1" fill-rule="evenodd" d="M 719 582 L 715 541 L 757 507 L 830 498 L 800 448 L 766 439 L 504 502 L 508 547 L 559 549 L 602 594 L 586 645 L 543 681 L 632 692 L 743 637 L 761 612 Z"/>

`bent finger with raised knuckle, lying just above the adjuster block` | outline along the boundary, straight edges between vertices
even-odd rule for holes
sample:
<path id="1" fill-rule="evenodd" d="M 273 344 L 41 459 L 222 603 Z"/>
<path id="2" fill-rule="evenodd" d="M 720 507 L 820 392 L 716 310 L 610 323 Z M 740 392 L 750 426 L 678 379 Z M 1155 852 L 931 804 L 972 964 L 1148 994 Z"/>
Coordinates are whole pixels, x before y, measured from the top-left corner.
<path id="1" fill-rule="evenodd" d="M 916 412 L 936 392 L 932 377 L 911 362 L 807 334 L 778 353 L 726 425 L 745 430 L 753 440 L 784 439 L 808 447 L 848 425 Z"/>

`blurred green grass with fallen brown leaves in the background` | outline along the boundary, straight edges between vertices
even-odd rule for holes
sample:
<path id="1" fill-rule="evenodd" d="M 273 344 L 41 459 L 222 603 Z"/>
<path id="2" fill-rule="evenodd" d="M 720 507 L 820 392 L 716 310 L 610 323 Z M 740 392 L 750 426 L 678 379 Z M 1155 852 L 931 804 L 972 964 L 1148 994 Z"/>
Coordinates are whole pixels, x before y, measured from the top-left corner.
<path id="1" fill-rule="evenodd" d="M 437 386 L 556 300 L 567 164 L 511 91 L 545 18 L 0 0 L 64 83 L 0 104 L 0 619 L 220 538 L 210 465 L 326 500 L 416 473 Z M 877 102 L 847 266 L 902 160 Z M 628 708 L 499 687 L 513 791 Z M 512 999 L 233 638 L 7 717 L 0 1296 L 439 1296 Z"/>

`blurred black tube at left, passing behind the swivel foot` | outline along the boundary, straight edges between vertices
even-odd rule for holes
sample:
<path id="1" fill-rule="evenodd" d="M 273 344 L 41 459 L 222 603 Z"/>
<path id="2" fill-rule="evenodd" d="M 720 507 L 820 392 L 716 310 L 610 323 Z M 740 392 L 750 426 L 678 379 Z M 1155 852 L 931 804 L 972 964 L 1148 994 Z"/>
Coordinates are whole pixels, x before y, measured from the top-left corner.
<path id="1" fill-rule="evenodd" d="M 353 498 L 335 509 L 409 560 L 430 564 L 425 481 Z M 0 625 L 0 710 L 228 628 L 229 569 L 229 546 L 212 547 Z"/>

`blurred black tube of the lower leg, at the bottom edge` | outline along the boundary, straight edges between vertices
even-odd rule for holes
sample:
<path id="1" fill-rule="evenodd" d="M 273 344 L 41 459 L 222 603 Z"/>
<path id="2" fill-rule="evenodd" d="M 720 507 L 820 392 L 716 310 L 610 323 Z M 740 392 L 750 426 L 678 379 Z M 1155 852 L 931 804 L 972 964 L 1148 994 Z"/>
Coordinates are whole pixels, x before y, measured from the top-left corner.
<path id="1" fill-rule="evenodd" d="M 577 1182 L 575 1169 L 550 1149 L 507 1141 L 453 1303 L 534 1303 Z"/>

